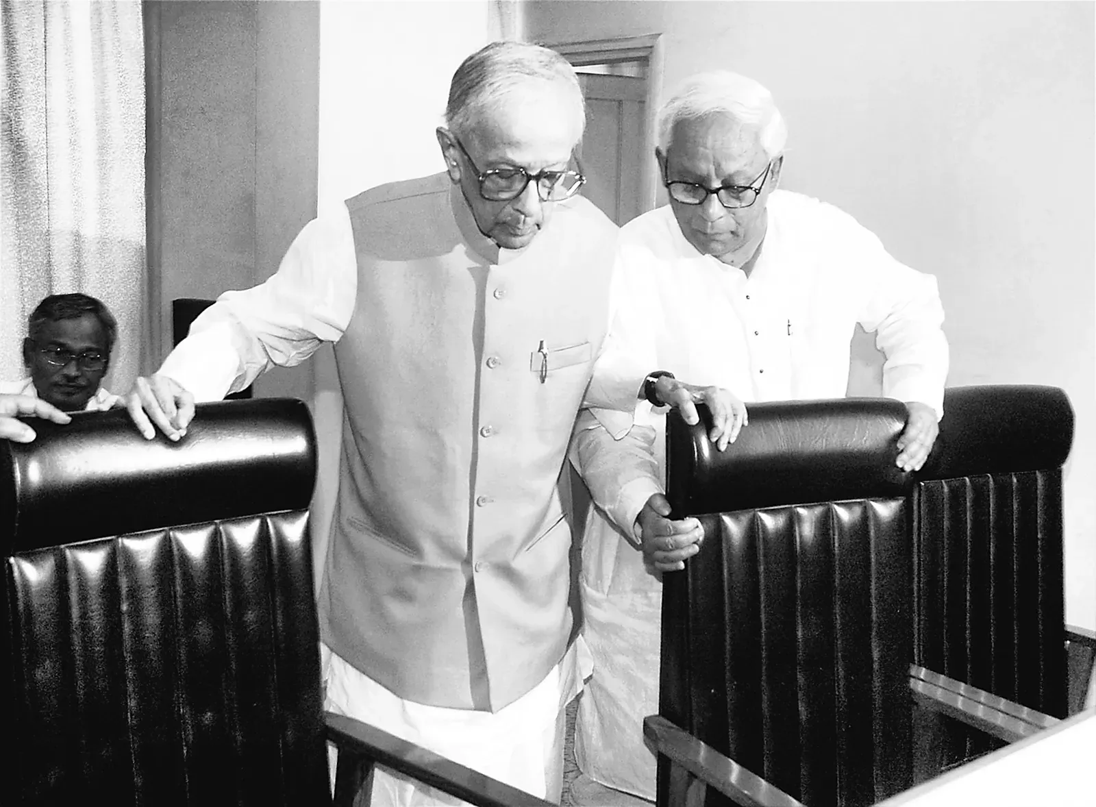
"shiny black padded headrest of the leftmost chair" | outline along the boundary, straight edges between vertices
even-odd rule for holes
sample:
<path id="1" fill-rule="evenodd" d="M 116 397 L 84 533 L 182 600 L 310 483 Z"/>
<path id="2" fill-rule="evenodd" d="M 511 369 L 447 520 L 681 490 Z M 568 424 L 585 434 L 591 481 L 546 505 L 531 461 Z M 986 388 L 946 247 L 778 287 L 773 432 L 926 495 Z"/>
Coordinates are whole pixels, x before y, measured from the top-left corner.
<path id="1" fill-rule="evenodd" d="M 316 436 L 299 400 L 201 404 L 178 443 L 145 440 L 123 409 L 33 428 L 31 443 L 0 440 L 5 554 L 302 510 L 312 496 Z"/>

